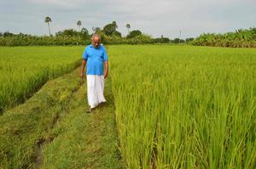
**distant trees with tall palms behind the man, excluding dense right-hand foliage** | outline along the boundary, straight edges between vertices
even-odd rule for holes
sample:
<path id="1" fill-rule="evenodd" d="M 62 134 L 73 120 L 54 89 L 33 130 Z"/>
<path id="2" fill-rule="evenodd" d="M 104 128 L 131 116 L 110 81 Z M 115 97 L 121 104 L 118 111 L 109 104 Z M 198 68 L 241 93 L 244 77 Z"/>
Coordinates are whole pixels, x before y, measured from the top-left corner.
<path id="1" fill-rule="evenodd" d="M 33 36 L 28 34 L 15 34 L 9 31 L 0 32 L 0 46 L 32 46 L 32 45 L 86 45 L 90 44 L 90 37 L 93 33 L 97 33 L 102 37 L 102 43 L 105 44 L 146 44 L 146 43 L 184 43 L 186 40 L 168 37 L 151 37 L 140 30 L 131 30 L 131 25 L 126 24 L 127 35 L 123 36 L 118 29 L 116 21 L 108 23 L 101 27 L 92 27 L 92 33 L 82 27 L 82 22 L 77 21 L 78 30 L 67 29 L 57 31 L 55 35 L 51 34 L 49 16 L 45 17 L 44 22 L 47 23 L 49 36 Z M 82 27 L 82 28 L 81 28 Z M 190 39 L 187 39 L 190 40 Z"/>

